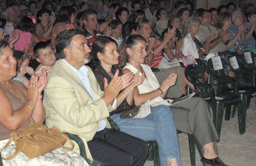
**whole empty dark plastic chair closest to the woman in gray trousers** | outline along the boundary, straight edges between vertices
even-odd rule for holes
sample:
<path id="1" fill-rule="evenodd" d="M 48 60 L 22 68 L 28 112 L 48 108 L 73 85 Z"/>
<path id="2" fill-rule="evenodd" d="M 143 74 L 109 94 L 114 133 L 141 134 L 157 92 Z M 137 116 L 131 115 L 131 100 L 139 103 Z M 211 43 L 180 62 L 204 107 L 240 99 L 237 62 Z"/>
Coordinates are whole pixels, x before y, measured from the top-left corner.
<path id="1" fill-rule="evenodd" d="M 205 79 L 205 73 L 209 74 L 209 77 L 212 77 L 214 80 L 217 80 L 218 84 L 226 85 L 227 83 L 231 83 L 233 89 L 229 90 L 228 95 L 226 93 L 215 95 L 213 87 L 209 84 L 208 79 Z M 204 98 L 213 108 L 213 123 L 219 138 L 224 108 L 226 107 L 226 112 L 230 112 L 231 105 L 234 104 L 238 105 L 239 131 L 240 134 L 243 134 L 243 111 L 245 111 L 246 108 L 244 107 L 240 96 L 237 95 L 236 80 L 231 77 L 216 76 L 207 68 L 199 65 L 189 65 L 185 70 L 185 76 L 187 80 L 193 84 L 196 96 Z"/>

